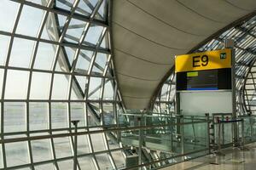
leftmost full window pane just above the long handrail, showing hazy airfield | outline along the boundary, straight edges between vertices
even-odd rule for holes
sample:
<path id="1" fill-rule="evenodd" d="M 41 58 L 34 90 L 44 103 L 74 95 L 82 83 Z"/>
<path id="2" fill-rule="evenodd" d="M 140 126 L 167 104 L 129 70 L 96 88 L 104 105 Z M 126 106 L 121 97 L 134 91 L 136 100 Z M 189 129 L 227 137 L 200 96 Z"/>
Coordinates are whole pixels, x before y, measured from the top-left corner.
<path id="1" fill-rule="evenodd" d="M 4 132 L 20 132 L 26 130 L 26 104 L 4 103 Z"/>

